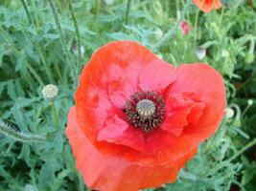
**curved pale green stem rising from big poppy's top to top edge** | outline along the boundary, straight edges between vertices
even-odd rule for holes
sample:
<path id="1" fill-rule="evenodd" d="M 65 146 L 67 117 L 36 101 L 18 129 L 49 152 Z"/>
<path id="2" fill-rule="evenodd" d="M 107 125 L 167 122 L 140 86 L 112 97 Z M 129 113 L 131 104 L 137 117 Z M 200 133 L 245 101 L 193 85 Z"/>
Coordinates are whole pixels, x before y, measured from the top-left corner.
<path id="1" fill-rule="evenodd" d="M 159 48 L 161 48 L 164 45 L 164 43 L 167 40 L 169 40 L 170 38 L 172 38 L 175 35 L 175 32 L 179 29 L 179 26 L 180 26 L 182 20 L 184 19 L 185 12 L 188 11 L 190 5 L 191 5 L 191 2 L 187 1 L 183 8 L 183 11 L 181 12 L 179 18 L 177 19 L 177 21 L 175 23 L 175 26 L 172 27 L 169 30 L 169 32 L 167 32 L 158 43 L 156 43 L 156 45 L 153 47 L 153 50 L 157 51 Z"/>

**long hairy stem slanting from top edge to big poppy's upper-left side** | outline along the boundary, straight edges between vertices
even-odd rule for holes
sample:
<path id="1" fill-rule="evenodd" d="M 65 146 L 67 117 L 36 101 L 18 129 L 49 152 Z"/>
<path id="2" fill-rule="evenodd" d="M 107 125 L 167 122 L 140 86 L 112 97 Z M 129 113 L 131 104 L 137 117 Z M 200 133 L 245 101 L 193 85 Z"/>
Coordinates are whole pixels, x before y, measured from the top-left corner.
<path id="1" fill-rule="evenodd" d="M 72 77 L 73 77 L 73 81 L 74 81 L 74 85 L 76 85 L 76 78 L 77 78 L 77 70 L 76 70 L 76 65 L 75 63 L 72 62 L 72 59 L 68 53 L 68 48 L 67 48 L 67 43 L 65 41 L 65 38 L 64 38 L 64 35 L 63 35 L 63 32 L 61 30 L 61 26 L 60 26 L 60 22 L 59 22 L 59 18 L 58 18 L 58 12 L 55 8 L 55 4 L 53 2 L 53 0 L 48 0 L 49 2 L 49 5 L 51 7 L 51 10 L 53 12 L 53 15 L 54 15 L 54 19 L 55 19 L 55 23 L 56 23 L 56 26 L 57 26 L 57 29 L 58 29 L 58 34 L 60 36 L 60 43 L 61 43 L 61 46 L 62 46 L 62 51 L 63 53 L 65 54 L 65 57 L 66 57 L 66 62 L 67 64 L 70 64 L 71 66 L 71 72 L 72 72 Z"/>

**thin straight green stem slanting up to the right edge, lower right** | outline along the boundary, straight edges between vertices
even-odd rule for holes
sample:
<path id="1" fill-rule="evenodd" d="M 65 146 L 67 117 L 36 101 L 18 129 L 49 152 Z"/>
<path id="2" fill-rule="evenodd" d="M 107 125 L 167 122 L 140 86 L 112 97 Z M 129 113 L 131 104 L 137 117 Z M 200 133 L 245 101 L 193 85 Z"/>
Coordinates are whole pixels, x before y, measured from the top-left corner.
<path id="1" fill-rule="evenodd" d="M 218 170 L 221 170 L 221 168 L 223 168 L 225 166 L 226 163 L 231 162 L 234 159 L 237 159 L 239 156 L 241 156 L 246 150 L 248 150 L 250 147 L 254 146 L 256 144 L 256 138 L 254 138 L 253 140 L 251 140 L 249 143 L 247 143 L 239 152 L 237 152 L 234 156 L 232 156 L 229 159 L 226 159 L 225 161 L 223 161 L 219 166 L 216 166 L 215 168 L 213 168 L 208 174 L 206 174 L 206 176 L 210 176 L 213 173 L 217 172 Z"/>

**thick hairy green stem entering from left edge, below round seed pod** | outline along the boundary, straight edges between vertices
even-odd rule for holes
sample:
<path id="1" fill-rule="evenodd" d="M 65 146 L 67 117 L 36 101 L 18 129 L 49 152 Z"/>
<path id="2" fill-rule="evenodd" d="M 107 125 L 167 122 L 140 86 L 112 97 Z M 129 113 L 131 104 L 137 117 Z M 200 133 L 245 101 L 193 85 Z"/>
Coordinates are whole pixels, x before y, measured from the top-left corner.
<path id="1" fill-rule="evenodd" d="M 37 136 L 31 133 L 24 134 L 13 130 L 9 125 L 0 122 L 0 134 L 8 138 L 14 138 L 23 142 L 43 142 L 46 141 L 45 137 Z"/>

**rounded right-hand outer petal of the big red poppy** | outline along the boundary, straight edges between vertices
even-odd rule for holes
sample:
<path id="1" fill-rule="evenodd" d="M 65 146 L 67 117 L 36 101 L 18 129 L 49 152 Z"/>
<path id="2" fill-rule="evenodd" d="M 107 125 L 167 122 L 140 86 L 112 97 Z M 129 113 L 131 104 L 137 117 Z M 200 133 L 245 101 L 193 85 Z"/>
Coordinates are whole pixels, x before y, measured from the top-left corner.
<path id="1" fill-rule="evenodd" d="M 177 78 L 170 95 L 184 92 L 197 93 L 200 102 L 199 118 L 194 119 L 184 130 L 184 138 L 200 142 L 214 134 L 221 123 L 225 108 L 225 88 L 221 74 L 207 64 L 182 64 L 176 70 Z M 190 118 L 191 119 L 191 118 Z M 192 119 L 191 119 L 192 120 Z M 197 124 L 194 124 L 198 120 Z"/>

